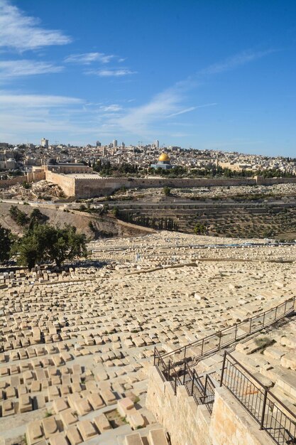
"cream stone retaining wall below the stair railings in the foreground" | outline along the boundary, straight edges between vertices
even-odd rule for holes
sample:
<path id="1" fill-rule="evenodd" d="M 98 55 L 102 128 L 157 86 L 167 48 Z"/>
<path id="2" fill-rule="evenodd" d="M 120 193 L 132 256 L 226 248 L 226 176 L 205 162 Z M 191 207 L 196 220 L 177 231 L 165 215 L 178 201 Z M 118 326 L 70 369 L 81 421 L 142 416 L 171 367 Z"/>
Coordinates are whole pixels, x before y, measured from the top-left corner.
<path id="1" fill-rule="evenodd" d="M 146 407 L 170 434 L 172 445 L 274 445 L 273 440 L 224 387 L 216 390 L 212 416 L 185 387 L 174 394 L 151 367 Z"/>

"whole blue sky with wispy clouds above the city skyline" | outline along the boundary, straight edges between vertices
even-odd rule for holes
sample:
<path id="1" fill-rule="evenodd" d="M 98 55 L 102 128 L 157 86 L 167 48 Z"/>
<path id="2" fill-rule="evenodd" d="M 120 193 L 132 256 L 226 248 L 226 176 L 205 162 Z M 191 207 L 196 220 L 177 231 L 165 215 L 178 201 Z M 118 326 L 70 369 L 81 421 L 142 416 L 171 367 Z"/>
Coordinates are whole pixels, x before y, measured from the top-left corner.
<path id="1" fill-rule="evenodd" d="M 0 0 L 0 141 L 296 156 L 294 0 Z"/>

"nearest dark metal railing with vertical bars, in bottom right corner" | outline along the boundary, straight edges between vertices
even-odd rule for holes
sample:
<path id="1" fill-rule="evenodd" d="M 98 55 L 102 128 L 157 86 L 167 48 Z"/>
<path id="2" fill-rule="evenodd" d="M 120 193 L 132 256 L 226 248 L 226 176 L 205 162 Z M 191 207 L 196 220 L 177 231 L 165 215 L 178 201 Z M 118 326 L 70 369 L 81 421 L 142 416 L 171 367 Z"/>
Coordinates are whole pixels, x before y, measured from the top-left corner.
<path id="1" fill-rule="evenodd" d="M 295 413 L 226 351 L 221 371 L 222 385 L 277 444 L 296 444 Z"/>

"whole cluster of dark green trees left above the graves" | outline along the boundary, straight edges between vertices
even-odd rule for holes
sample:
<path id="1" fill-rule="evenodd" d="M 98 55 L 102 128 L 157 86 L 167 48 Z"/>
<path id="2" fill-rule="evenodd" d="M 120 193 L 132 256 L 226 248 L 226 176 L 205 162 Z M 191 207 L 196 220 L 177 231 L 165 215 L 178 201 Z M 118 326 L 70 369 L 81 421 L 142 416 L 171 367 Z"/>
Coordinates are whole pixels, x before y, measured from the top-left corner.
<path id="1" fill-rule="evenodd" d="M 45 223 L 47 217 L 38 209 L 31 215 L 11 206 L 11 218 L 26 226 L 23 237 L 12 235 L 11 230 L 0 225 L 0 262 L 16 256 L 18 264 L 31 269 L 35 264 L 53 263 L 60 267 L 66 260 L 87 257 L 87 238 L 77 233 L 76 227 L 54 227 Z"/>

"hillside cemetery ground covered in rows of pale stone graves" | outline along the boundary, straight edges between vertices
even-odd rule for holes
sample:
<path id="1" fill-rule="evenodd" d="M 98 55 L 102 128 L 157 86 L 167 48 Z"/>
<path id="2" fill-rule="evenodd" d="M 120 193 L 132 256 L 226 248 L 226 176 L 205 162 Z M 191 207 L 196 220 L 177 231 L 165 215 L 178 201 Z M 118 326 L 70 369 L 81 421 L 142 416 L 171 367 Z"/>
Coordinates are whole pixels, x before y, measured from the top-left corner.
<path id="1" fill-rule="evenodd" d="M 172 232 L 99 240 L 88 263 L 62 273 L 2 272 L 6 444 L 166 444 L 145 404 L 153 348 L 172 350 L 296 295 L 295 246 L 198 247 L 227 241 Z M 292 340 L 288 348 L 287 360 Z M 270 380 L 275 356 L 263 357 Z"/>

